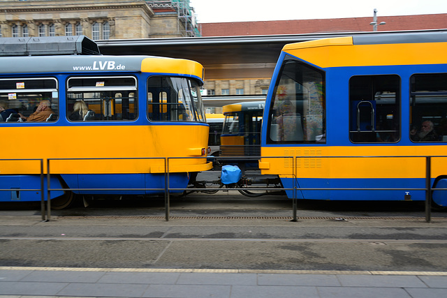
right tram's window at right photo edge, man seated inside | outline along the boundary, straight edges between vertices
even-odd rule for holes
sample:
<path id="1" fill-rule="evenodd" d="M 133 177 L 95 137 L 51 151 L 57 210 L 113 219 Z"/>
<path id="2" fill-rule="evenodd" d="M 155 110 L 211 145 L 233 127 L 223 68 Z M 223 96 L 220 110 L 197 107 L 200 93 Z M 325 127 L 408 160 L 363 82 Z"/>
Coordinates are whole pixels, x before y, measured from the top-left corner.
<path id="1" fill-rule="evenodd" d="M 410 139 L 447 142 L 447 74 L 412 75 L 410 90 Z"/>

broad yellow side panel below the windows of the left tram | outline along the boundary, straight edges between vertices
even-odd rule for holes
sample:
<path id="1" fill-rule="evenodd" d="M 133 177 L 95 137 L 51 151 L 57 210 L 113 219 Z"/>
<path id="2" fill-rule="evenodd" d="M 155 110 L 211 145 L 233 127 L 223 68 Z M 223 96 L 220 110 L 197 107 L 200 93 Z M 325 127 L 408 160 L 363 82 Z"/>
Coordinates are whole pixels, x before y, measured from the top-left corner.
<path id="1" fill-rule="evenodd" d="M 26 124 L 24 124 L 26 125 Z M 3 146 L 2 158 L 158 158 L 126 160 L 51 161 L 52 173 L 145 173 L 164 168 L 170 159 L 174 172 L 209 170 L 206 153 L 208 126 L 30 126 L 2 127 L 7 140 L 25 145 Z M 196 157 L 196 158 L 193 158 Z M 38 174 L 37 161 L 0 161 L 0 174 Z"/>

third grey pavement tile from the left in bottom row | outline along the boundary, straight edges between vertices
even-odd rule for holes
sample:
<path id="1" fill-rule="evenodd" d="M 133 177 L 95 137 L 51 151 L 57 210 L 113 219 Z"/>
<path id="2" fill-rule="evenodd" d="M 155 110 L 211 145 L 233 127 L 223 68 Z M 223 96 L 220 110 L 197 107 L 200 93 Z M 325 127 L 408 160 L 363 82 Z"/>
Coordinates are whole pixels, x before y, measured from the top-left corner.
<path id="1" fill-rule="evenodd" d="M 228 298 L 230 285 L 149 285 L 142 297 Z"/>

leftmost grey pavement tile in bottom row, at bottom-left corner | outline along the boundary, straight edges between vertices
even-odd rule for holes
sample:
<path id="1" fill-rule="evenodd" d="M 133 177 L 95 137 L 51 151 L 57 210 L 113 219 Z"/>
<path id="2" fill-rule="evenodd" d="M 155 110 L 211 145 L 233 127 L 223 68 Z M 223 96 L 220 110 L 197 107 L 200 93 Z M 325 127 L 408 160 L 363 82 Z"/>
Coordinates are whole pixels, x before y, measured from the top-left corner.
<path id="1" fill-rule="evenodd" d="M 68 283 L 34 283 L 22 281 L 6 281 L 1 283 L 0 295 L 38 295 L 54 296 Z"/>

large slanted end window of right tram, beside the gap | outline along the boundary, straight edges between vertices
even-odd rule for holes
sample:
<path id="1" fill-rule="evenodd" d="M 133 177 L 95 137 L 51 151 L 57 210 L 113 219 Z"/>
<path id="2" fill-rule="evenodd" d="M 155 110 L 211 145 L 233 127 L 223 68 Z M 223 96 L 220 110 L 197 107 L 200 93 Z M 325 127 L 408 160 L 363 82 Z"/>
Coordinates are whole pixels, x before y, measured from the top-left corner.
<path id="1" fill-rule="evenodd" d="M 285 59 L 274 88 L 268 143 L 325 142 L 325 73 Z"/>

